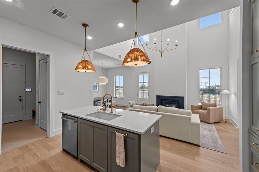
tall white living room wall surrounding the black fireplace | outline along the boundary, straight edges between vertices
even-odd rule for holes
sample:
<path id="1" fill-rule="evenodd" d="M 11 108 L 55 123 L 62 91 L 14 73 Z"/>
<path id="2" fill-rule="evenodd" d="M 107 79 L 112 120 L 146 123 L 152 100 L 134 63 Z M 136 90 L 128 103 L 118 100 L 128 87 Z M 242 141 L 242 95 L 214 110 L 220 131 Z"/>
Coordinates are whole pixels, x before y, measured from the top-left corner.
<path id="1" fill-rule="evenodd" d="M 174 47 L 175 40 L 178 41 L 179 46 L 176 50 L 164 52 L 163 57 L 159 52 L 145 48 L 151 59 L 149 65 L 130 69 L 125 67 L 107 69 L 109 80 L 114 81 L 115 75 L 124 75 L 124 98 L 116 103 L 128 105 L 128 101 L 137 100 L 136 73 L 140 71 L 151 71 L 151 103 L 155 104 L 156 95 L 184 96 L 185 109 L 190 109 L 192 104 L 199 103 L 199 69 L 221 67 L 222 90 L 229 89 L 228 15 L 229 10 L 223 11 L 221 24 L 202 29 L 199 29 L 199 19 L 197 19 L 163 30 L 163 49 L 166 47 L 168 38 L 171 48 Z M 154 48 L 154 38 L 156 38 L 157 47 L 160 48 L 160 34 L 160 31 L 150 34 L 150 42 L 148 42 L 150 48 Z M 123 59 L 129 51 L 131 42 L 132 40 L 124 41 L 96 51 L 107 53 L 106 55 L 115 56 L 115 58 L 117 54 L 121 54 Z M 107 91 L 114 93 L 114 83 L 112 85 L 110 83 Z M 222 105 L 225 105 L 224 96 L 222 96 Z"/>

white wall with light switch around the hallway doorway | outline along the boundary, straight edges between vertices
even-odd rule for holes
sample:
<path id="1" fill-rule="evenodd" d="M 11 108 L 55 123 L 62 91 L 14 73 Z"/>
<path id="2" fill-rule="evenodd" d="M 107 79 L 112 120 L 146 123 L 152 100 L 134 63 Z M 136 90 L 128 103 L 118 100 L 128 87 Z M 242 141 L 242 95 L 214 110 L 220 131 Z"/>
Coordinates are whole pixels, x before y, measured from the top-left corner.
<path id="1" fill-rule="evenodd" d="M 90 89 L 93 89 L 94 74 L 74 71 L 81 60 L 84 47 L 1 17 L 0 36 L 0 44 L 51 54 L 53 87 L 50 92 L 53 94 L 53 111 L 50 114 L 50 136 L 61 132 L 60 110 L 93 104 L 93 93 L 90 93 Z M 92 50 L 89 50 L 89 55 L 93 58 Z M 65 90 L 65 95 L 58 95 L 58 90 Z"/>

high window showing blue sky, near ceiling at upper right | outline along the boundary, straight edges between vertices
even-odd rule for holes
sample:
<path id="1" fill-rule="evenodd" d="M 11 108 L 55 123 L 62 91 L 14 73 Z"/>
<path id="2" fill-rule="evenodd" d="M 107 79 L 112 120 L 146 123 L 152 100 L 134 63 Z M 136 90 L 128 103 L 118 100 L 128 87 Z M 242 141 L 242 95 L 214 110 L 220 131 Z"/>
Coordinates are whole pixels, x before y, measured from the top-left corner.
<path id="1" fill-rule="evenodd" d="M 222 18 L 221 18 L 221 12 L 208 15 L 206 17 L 200 18 L 199 19 L 199 28 L 205 28 L 208 26 L 212 26 L 215 24 L 222 23 Z"/>

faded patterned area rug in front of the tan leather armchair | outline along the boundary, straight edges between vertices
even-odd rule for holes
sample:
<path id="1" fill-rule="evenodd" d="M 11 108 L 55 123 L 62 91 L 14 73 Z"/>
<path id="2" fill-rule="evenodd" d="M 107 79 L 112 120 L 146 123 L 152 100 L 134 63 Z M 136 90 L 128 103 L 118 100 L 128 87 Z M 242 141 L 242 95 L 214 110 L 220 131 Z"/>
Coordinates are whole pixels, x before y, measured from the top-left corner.
<path id="1" fill-rule="evenodd" d="M 201 122 L 201 147 L 226 153 L 213 124 Z"/>

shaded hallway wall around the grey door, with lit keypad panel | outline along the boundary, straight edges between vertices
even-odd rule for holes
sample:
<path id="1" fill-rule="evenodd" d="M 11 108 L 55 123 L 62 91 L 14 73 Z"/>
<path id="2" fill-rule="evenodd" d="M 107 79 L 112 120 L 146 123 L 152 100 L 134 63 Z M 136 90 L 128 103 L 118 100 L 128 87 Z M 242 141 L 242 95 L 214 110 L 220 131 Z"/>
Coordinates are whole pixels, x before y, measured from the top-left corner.
<path id="1" fill-rule="evenodd" d="M 36 94 L 36 81 L 35 81 L 35 54 L 30 52 L 24 52 L 20 50 L 14 50 L 10 48 L 3 48 L 3 63 L 22 65 L 25 69 L 25 87 L 31 88 L 31 92 L 23 90 L 21 96 L 23 99 L 23 114 L 22 120 L 28 120 L 32 118 L 32 108 L 35 108 L 35 94 Z M 3 90 L 4 91 L 4 90 Z M 17 95 L 18 96 L 18 95 Z M 17 97 L 17 99 L 19 99 Z"/>

